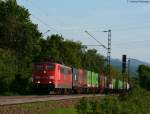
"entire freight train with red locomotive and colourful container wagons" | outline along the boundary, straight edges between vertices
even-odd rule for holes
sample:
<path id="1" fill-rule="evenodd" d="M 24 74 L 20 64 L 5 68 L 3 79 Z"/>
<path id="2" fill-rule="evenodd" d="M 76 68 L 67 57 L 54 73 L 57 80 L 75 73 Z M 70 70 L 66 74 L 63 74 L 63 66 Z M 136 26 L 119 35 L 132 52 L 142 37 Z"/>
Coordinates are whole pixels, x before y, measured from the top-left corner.
<path id="1" fill-rule="evenodd" d="M 104 93 L 128 91 L 130 88 L 128 82 L 114 78 L 109 79 L 108 82 L 108 78 L 99 73 L 68 67 L 56 62 L 36 62 L 33 67 L 33 85 L 40 92 Z"/>

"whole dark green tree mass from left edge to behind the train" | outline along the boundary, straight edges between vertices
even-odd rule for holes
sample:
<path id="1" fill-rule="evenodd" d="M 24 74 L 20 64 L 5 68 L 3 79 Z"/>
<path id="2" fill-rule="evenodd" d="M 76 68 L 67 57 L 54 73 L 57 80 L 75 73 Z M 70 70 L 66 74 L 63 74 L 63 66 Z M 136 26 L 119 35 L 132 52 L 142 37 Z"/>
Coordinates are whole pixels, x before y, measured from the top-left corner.
<path id="1" fill-rule="evenodd" d="M 27 9 L 0 1 L 0 94 L 31 94 L 33 63 L 43 58 L 105 73 L 105 57 L 96 49 L 58 34 L 44 39 Z"/>

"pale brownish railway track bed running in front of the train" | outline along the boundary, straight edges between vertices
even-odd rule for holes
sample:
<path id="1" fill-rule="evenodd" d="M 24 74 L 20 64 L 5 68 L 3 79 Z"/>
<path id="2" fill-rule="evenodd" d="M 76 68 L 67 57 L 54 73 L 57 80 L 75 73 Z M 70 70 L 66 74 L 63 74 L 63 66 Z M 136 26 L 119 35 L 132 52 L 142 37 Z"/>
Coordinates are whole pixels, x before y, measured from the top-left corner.
<path id="1" fill-rule="evenodd" d="M 80 94 L 80 95 L 33 95 L 33 96 L 0 96 L 0 106 L 16 105 L 33 102 L 43 102 L 49 100 L 67 100 L 67 99 L 79 99 L 82 97 L 104 96 L 103 94 Z"/>

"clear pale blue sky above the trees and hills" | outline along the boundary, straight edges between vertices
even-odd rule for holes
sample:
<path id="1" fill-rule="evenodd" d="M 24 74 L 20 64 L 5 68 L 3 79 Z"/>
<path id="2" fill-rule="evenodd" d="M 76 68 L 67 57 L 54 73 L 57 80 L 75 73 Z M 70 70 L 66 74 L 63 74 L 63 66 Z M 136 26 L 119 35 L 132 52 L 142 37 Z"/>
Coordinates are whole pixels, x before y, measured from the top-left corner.
<path id="1" fill-rule="evenodd" d="M 29 9 L 31 19 L 47 35 L 62 34 L 66 39 L 83 44 L 97 44 L 85 30 L 107 46 L 112 30 L 112 57 L 150 62 L 150 2 L 130 3 L 127 0 L 18 0 Z M 92 48 L 92 47 L 89 47 Z M 102 47 L 93 47 L 106 55 Z"/>

